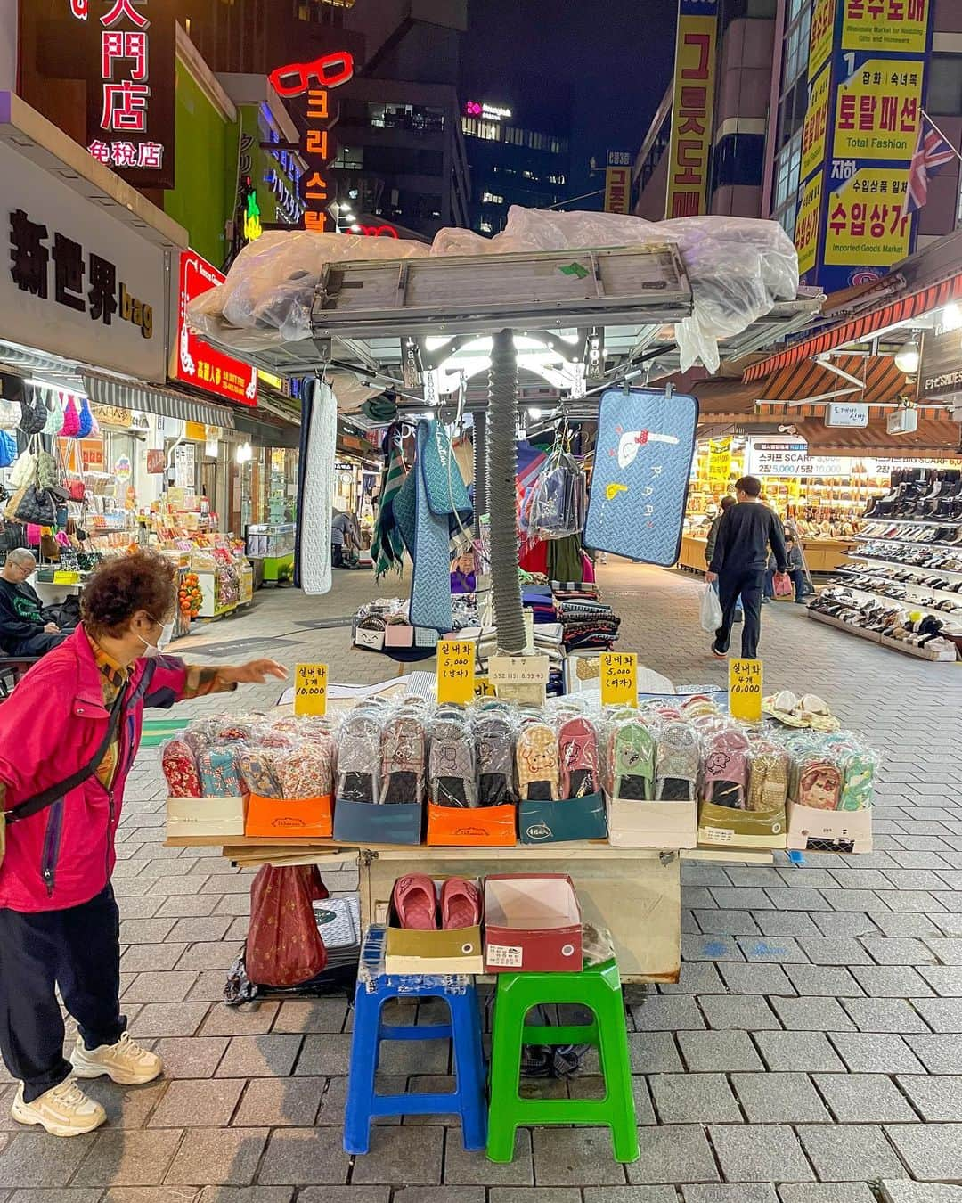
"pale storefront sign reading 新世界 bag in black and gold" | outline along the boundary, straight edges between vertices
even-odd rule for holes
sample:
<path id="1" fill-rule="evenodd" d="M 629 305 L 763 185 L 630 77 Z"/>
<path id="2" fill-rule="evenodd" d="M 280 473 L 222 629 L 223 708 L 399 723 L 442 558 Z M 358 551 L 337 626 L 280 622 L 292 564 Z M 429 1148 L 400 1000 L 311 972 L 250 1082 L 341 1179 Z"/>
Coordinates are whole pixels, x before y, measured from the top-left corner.
<path id="1" fill-rule="evenodd" d="M 6 142 L 0 179 L 8 265 L 0 272 L 2 337 L 162 380 L 164 250 Z"/>

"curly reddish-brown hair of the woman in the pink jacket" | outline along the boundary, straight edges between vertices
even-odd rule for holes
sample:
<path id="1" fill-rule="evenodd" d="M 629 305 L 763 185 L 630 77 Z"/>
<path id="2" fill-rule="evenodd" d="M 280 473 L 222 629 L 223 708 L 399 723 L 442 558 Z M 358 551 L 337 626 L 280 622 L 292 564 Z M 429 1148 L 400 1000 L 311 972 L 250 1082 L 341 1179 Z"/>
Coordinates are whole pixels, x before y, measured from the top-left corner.
<path id="1" fill-rule="evenodd" d="M 176 598 L 173 565 L 156 552 L 138 551 L 100 564 L 81 594 L 81 618 L 91 634 L 119 638 L 138 610 L 162 622 Z"/>

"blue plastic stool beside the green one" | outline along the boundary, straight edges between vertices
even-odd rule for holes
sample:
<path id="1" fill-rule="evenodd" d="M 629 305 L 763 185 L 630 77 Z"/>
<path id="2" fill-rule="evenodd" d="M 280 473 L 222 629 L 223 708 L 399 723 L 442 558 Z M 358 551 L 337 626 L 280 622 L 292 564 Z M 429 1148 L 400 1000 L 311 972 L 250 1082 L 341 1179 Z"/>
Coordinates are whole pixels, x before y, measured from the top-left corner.
<path id="1" fill-rule="evenodd" d="M 391 998 L 443 998 L 450 1024 L 385 1024 L 381 1009 Z M 456 1090 L 446 1095 L 378 1095 L 374 1077 L 381 1041 L 450 1039 L 455 1050 Z M 470 978 L 381 974 L 370 985 L 358 980 L 355 994 L 348 1103 L 344 1109 L 344 1151 L 367 1152 L 370 1121 L 378 1115 L 461 1115 L 468 1150 L 487 1144 L 485 1055 L 481 1013 Z"/>

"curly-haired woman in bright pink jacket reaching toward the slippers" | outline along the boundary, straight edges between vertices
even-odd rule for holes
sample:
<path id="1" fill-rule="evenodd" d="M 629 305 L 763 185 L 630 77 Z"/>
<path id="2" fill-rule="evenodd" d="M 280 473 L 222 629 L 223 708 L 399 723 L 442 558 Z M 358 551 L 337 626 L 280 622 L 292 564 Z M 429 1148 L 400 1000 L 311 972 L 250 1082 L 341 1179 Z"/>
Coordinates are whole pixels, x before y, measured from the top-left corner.
<path id="1" fill-rule="evenodd" d="M 107 1118 L 75 1078 L 130 1085 L 162 1069 L 120 1014 L 111 888 L 143 707 L 287 675 L 274 660 L 196 668 L 161 654 L 176 602 L 162 557 L 106 562 L 84 588 L 82 626 L 0 705 L 0 1053 L 19 1081 L 13 1119 L 54 1136 Z M 58 986 L 79 1027 L 70 1061 Z"/>

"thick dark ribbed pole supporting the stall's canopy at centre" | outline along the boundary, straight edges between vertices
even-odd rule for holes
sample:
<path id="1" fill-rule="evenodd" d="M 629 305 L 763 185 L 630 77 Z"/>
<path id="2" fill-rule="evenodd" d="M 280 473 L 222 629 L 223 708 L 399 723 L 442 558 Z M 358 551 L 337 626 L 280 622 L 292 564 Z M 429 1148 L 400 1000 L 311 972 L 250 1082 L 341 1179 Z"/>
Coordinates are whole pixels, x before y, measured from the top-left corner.
<path id="1" fill-rule="evenodd" d="M 488 373 L 488 512 L 491 515 L 491 579 L 498 647 L 519 656 L 525 647 L 524 610 L 518 580 L 518 522 L 515 478 L 518 450 L 516 410 L 518 357 L 510 330 L 497 333 Z"/>

